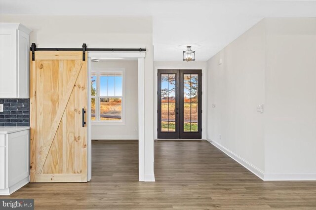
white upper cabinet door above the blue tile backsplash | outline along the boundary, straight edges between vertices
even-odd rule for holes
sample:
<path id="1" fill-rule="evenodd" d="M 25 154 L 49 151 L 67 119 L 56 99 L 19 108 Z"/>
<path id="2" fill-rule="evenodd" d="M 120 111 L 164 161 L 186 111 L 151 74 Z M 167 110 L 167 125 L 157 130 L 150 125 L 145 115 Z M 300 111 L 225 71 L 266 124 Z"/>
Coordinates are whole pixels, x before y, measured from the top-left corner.
<path id="1" fill-rule="evenodd" d="M 16 30 L 0 30 L 0 98 L 17 97 Z"/>

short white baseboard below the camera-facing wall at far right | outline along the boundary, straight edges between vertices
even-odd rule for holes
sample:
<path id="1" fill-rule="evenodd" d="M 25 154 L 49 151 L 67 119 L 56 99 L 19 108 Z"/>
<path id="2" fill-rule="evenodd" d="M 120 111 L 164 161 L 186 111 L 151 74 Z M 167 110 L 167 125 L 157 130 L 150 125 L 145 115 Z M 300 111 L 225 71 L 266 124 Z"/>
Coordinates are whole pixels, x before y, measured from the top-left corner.
<path id="1" fill-rule="evenodd" d="M 280 173 L 265 174 L 265 181 L 316 181 L 316 174 L 313 173 Z"/>

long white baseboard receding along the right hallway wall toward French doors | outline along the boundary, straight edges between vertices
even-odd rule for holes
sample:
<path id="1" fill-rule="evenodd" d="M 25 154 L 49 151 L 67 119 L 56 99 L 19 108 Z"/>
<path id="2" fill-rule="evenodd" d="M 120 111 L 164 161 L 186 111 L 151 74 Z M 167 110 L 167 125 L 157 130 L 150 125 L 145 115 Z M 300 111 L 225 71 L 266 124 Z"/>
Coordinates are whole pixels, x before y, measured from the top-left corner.
<path id="1" fill-rule="evenodd" d="M 211 141 L 211 140 L 208 140 L 208 141 L 211 144 L 213 144 L 214 146 L 216 146 L 218 149 L 220 149 L 222 152 L 224 152 L 225 154 L 227 154 L 228 156 L 233 158 L 240 165 L 242 165 L 243 167 L 248 169 L 252 174 L 254 174 L 254 175 L 258 176 L 259 178 L 261 178 L 262 180 L 264 180 L 265 174 L 263 171 L 261 171 L 260 169 L 258 169 L 257 167 L 255 167 L 254 165 L 252 165 L 251 163 L 246 161 L 245 159 L 239 157 L 237 154 L 235 154 L 231 150 L 229 150 L 226 147 L 222 146 L 221 144 L 217 143 L 216 141 Z"/>

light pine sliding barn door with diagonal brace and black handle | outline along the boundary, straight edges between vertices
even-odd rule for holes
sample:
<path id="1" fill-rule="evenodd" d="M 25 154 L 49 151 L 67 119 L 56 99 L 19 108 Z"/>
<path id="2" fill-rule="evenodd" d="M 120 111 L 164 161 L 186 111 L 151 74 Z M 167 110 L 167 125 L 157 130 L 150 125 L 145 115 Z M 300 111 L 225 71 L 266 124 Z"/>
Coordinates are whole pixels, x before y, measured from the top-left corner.
<path id="1" fill-rule="evenodd" d="M 31 182 L 87 181 L 86 60 L 36 51 L 30 61 Z"/>

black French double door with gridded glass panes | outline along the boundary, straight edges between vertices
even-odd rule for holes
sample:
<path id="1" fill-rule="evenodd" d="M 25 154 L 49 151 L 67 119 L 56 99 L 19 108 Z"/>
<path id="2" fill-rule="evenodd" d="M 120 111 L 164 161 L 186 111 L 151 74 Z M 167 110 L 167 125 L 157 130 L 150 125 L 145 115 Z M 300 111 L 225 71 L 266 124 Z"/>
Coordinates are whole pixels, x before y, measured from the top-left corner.
<path id="1" fill-rule="evenodd" d="M 201 70 L 158 70 L 158 139 L 202 138 L 201 76 Z"/>

